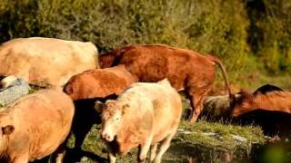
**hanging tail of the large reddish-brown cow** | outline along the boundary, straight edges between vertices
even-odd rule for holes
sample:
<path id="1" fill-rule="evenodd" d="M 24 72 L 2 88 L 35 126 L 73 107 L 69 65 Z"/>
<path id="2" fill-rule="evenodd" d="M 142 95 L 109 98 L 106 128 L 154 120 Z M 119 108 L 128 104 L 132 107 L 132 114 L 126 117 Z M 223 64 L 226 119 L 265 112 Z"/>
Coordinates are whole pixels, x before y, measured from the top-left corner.
<path id="1" fill-rule="evenodd" d="M 225 79 L 225 83 L 226 83 L 226 89 L 228 91 L 228 95 L 229 95 L 229 99 L 230 99 L 230 106 L 233 106 L 236 102 L 236 96 L 233 94 L 233 92 L 231 91 L 230 89 L 230 84 L 229 84 L 229 81 L 228 81 L 228 77 L 227 77 L 227 73 L 226 73 L 226 69 L 225 69 L 225 66 L 223 65 L 223 63 L 218 59 L 216 58 L 215 56 L 213 55 L 207 55 L 207 57 L 212 61 L 212 62 L 215 62 L 219 68 L 221 69 L 222 71 L 222 74 L 224 76 L 224 79 Z"/>

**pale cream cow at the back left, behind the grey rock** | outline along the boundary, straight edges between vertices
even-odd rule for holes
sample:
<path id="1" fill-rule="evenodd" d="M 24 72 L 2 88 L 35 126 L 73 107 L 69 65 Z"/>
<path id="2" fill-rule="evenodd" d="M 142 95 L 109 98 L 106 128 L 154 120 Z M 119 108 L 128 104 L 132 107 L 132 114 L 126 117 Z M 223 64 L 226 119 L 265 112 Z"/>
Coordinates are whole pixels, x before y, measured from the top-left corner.
<path id="1" fill-rule="evenodd" d="M 98 68 L 93 43 L 18 38 L 0 46 L 0 76 L 15 75 L 38 86 L 63 86 L 71 76 Z"/>

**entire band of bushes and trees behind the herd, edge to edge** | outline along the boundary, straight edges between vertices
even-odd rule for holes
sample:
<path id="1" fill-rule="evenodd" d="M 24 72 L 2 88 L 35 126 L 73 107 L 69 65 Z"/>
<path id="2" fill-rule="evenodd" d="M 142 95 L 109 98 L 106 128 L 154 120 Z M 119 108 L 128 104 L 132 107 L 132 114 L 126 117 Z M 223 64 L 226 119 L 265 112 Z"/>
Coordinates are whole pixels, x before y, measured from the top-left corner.
<path id="1" fill-rule="evenodd" d="M 218 56 L 235 84 L 266 81 L 291 89 L 285 82 L 291 76 L 289 0 L 0 2 L 0 43 L 56 37 L 91 41 L 100 53 L 128 43 L 166 43 Z M 272 81 L 275 75 L 282 82 Z"/>

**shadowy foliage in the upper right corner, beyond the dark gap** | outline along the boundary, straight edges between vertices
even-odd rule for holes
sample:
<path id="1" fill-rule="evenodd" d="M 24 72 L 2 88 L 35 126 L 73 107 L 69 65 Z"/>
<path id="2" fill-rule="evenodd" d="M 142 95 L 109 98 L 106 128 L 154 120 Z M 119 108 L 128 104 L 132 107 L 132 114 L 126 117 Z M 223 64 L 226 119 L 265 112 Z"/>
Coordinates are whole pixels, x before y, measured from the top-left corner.
<path id="1" fill-rule="evenodd" d="M 288 0 L 248 1 L 249 42 L 270 72 L 291 72 L 291 3 Z"/>

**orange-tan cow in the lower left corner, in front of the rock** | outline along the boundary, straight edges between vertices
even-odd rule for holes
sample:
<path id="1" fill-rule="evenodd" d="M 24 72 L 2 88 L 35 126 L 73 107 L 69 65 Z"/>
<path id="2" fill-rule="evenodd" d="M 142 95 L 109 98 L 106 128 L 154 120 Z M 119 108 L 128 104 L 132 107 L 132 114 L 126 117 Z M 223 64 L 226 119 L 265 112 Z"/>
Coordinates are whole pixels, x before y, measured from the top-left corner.
<path id="1" fill-rule="evenodd" d="M 2 108 L 0 162 L 25 163 L 52 154 L 65 141 L 74 111 L 71 98 L 55 90 L 36 91 Z"/>

